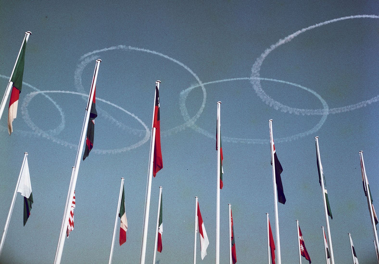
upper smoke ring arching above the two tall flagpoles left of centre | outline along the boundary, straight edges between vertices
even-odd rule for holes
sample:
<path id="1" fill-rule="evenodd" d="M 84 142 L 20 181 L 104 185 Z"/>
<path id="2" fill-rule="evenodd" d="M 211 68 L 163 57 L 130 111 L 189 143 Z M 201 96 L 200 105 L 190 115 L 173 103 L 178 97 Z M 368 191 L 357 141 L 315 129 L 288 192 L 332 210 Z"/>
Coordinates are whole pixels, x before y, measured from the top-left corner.
<path id="1" fill-rule="evenodd" d="M 118 50 L 118 49 L 123 49 L 123 50 L 127 50 L 127 51 L 142 51 L 142 52 L 147 52 L 147 53 L 150 53 L 150 54 L 158 55 L 160 57 L 166 58 L 168 60 L 171 60 L 172 62 L 175 62 L 175 63 L 179 64 L 180 66 L 182 66 L 183 68 L 185 68 L 189 73 L 191 73 L 192 76 L 195 77 L 196 81 L 199 83 L 199 85 L 197 87 L 201 87 L 201 89 L 203 91 L 203 102 L 202 102 L 199 110 L 197 111 L 197 113 L 193 117 L 189 118 L 188 120 L 185 120 L 186 122 L 183 123 L 182 125 L 175 126 L 174 128 L 171 128 L 171 129 L 166 130 L 166 131 L 161 131 L 161 136 L 169 136 L 172 133 L 177 133 L 179 131 L 184 130 L 186 127 L 193 126 L 194 123 L 196 122 L 196 120 L 199 119 L 200 115 L 202 114 L 202 112 L 204 110 L 204 107 L 205 107 L 205 102 L 207 100 L 207 92 L 205 91 L 204 85 L 200 81 L 200 79 L 197 76 L 197 74 L 194 73 L 184 63 L 179 62 L 178 60 L 175 60 L 174 58 L 171 58 L 168 55 L 164 55 L 164 54 L 162 54 L 160 52 L 157 52 L 157 51 L 150 51 L 149 49 L 143 49 L 143 48 L 138 48 L 138 47 L 119 45 L 119 46 L 113 46 L 113 47 L 108 47 L 108 48 L 104 48 L 104 49 L 99 49 L 99 50 L 88 52 L 88 53 L 84 54 L 83 56 L 80 57 L 80 62 L 77 65 L 77 69 L 75 70 L 75 75 L 74 75 L 75 86 L 77 87 L 78 92 L 82 92 L 82 93 L 85 92 L 85 90 L 83 88 L 83 85 L 82 85 L 82 82 L 81 82 L 81 75 L 83 74 L 83 70 L 84 70 L 85 66 L 89 62 L 91 62 L 92 60 L 96 60 L 97 58 L 99 58 L 98 56 L 95 56 L 94 54 L 97 54 L 97 53 L 100 53 L 100 52 L 104 52 L 104 51 Z M 88 98 L 85 98 L 85 100 L 88 100 Z M 102 111 L 102 109 L 99 109 L 99 110 Z M 134 133 L 141 132 L 141 130 L 135 130 L 135 129 L 131 129 L 128 126 L 125 126 L 121 122 L 118 122 L 116 119 L 114 119 L 113 117 L 111 117 L 110 115 L 108 115 L 106 112 L 102 112 L 102 115 L 105 116 L 108 119 L 111 119 L 113 122 L 116 122 L 117 125 L 122 126 L 122 127 L 126 127 L 129 130 L 132 130 Z"/>

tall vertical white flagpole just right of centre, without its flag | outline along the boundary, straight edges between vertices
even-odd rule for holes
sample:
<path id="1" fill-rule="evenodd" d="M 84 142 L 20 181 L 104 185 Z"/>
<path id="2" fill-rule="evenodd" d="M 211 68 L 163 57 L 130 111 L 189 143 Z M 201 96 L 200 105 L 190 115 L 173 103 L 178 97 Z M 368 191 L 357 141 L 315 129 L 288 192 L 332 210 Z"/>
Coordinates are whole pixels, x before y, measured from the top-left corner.
<path id="1" fill-rule="evenodd" d="M 216 195 L 216 259 L 215 263 L 220 263 L 220 107 L 221 102 L 217 102 L 217 195 Z"/>

